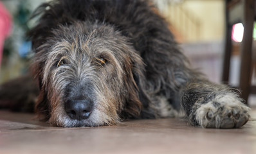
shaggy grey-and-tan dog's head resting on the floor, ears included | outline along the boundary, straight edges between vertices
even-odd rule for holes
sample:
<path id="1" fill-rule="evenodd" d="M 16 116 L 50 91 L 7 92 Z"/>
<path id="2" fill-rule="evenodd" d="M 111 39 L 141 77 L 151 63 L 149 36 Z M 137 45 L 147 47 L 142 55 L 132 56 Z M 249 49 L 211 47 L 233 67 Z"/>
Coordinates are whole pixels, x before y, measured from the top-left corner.
<path id="1" fill-rule="evenodd" d="M 114 124 L 138 116 L 143 62 L 129 40 L 100 22 L 74 22 L 51 30 L 32 65 L 41 92 L 37 112 L 57 126 Z M 137 81 L 135 81 L 137 80 Z"/>

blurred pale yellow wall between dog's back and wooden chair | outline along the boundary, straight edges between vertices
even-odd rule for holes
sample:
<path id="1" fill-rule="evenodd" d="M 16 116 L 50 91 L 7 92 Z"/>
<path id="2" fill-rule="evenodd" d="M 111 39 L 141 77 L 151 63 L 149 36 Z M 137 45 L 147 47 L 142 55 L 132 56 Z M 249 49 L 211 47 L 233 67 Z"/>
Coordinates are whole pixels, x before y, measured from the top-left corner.
<path id="1" fill-rule="evenodd" d="M 181 38 L 181 42 L 223 40 L 224 0 L 183 0 L 181 3 L 158 0 L 156 2 L 160 12 L 172 25 L 174 34 Z M 199 26 L 191 26 L 191 23 L 199 23 L 194 24 Z"/>

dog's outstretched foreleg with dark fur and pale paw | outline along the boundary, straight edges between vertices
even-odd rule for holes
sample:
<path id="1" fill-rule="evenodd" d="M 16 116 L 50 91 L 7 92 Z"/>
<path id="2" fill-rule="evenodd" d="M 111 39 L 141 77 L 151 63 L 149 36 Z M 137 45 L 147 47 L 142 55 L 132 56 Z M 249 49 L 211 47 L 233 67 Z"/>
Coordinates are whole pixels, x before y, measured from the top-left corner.
<path id="1" fill-rule="evenodd" d="M 190 82 L 181 91 L 181 104 L 192 125 L 204 128 L 239 128 L 246 124 L 250 108 L 225 85 Z"/>

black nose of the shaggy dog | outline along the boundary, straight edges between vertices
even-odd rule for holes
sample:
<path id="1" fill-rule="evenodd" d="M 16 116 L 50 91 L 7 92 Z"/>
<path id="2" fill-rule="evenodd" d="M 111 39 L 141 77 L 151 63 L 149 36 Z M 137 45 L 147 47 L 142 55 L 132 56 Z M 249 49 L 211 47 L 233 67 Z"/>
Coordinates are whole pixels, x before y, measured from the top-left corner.
<path id="1" fill-rule="evenodd" d="M 89 100 L 67 101 L 65 110 L 71 119 L 87 119 L 92 112 L 92 102 Z"/>

